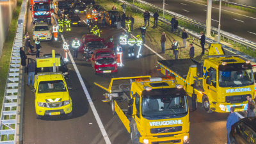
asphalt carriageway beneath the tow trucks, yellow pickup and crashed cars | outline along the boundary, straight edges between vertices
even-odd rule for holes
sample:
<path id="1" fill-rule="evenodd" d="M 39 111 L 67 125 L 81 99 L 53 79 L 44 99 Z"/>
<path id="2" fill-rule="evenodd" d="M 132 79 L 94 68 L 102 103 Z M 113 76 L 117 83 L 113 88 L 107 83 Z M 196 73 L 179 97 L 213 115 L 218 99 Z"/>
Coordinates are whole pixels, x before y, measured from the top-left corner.
<path id="1" fill-rule="evenodd" d="M 84 19 L 84 15 L 81 15 Z M 52 19 L 54 23 L 54 19 Z M 27 31 L 32 36 L 33 24 L 31 23 L 31 13 L 28 12 Z M 135 29 L 136 30 L 136 29 Z M 114 42 L 117 43 L 121 34 L 120 30 L 104 28 L 102 29 L 102 38 L 107 38 L 109 35 L 114 35 Z M 88 33 L 86 27 L 72 28 L 71 32 L 64 31 L 63 36 L 65 39 L 77 37 L 81 38 L 82 35 Z M 56 53 L 64 54 L 62 48 L 62 40 L 59 35 L 59 41 L 41 42 L 42 54 L 51 53 L 55 49 Z M 146 44 L 154 51 L 160 54 L 160 50 L 152 47 L 150 42 Z M 35 45 L 35 44 L 34 44 Z M 71 53 L 72 52 L 72 49 Z M 124 67 L 118 68 L 118 74 L 115 77 L 129 77 L 129 76 L 159 76 L 156 70 L 156 60 L 161 60 L 154 52 L 146 47 L 143 47 L 142 58 L 127 58 L 128 49 L 125 49 L 124 54 Z M 166 60 L 170 59 L 166 54 L 160 54 Z M 35 52 L 28 55 L 28 58 L 35 59 Z M 129 133 L 125 129 L 118 116 L 113 116 L 111 113 L 111 106 L 107 102 L 102 102 L 105 99 L 101 90 L 93 82 L 109 82 L 111 75 L 96 76 L 93 72 L 91 62 L 83 60 L 83 55 L 79 54 L 78 60 L 75 60 L 83 82 L 92 98 L 93 104 L 99 118 L 104 125 L 104 129 L 108 134 L 109 140 L 113 144 L 131 143 Z M 90 143 L 101 144 L 106 143 L 102 133 L 100 132 L 99 125 L 93 115 L 92 108 L 89 105 L 88 99 L 84 94 L 83 88 L 77 77 L 76 71 L 70 62 L 70 80 L 67 80 L 68 85 L 72 85 L 73 89 L 69 91 L 73 103 L 73 115 L 69 118 L 66 115 L 60 116 L 45 116 L 42 120 L 36 119 L 35 113 L 35 95 L 31 92 L 31 86 L 25 87 L 24 96 L 24 124 L 23 124 L 23 143 Z M 26 75 L 27 77 L 27 75 Z M 27 83 L 27 80 L 25 81 Z M 225 128 L 228 113 L 205 113 L 204 109 L 198 109 L 189 113 L 190 132 L 189 143 L 226 143 L 227 131 Z"/>

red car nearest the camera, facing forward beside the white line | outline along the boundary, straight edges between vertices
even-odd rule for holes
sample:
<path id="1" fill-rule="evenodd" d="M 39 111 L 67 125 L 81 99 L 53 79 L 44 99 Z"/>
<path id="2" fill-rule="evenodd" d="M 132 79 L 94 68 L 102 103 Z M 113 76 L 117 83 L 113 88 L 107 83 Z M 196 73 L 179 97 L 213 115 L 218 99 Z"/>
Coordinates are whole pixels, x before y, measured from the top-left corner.
<path id="1" fill-rule="evenodd" d="M 111 49 L 95 50 L 91 58 L 95 74 L 117 72 L 116 59 Z"/>

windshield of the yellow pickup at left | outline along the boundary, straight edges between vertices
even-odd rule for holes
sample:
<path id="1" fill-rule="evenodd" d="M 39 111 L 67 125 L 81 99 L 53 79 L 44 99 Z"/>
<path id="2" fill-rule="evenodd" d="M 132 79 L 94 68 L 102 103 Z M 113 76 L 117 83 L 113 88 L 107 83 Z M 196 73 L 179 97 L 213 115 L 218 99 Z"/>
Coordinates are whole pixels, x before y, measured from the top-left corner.
<path id="1" fill-rule="evenodd" d="M 66 86 L 62 80 L 58 81 L 41 81 L 37 93 L 54 93 L 67 92 Z"/>

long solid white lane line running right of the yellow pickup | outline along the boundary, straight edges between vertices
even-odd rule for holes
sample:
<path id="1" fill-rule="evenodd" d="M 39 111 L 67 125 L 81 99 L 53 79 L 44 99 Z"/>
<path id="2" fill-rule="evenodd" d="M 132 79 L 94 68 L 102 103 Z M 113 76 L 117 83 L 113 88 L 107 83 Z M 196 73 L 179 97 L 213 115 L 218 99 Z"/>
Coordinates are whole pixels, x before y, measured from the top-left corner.
<path id="1" fill-rule="evenodd" d="M 61 35 L 61 38 L 62 38 L 63 43 L 64 43 L 64 42 L 65 42 L 64 36 Z M 70 51 L 68 52 L 68 55 L 69 55 L 69 58 L 70 58 L 70 60 L 72 61 L 72 64 L 73 64 L 73 66 L 74 66 L 74 68 L 75 68 L 75 70 L 76 70 L 77 77 L 78 77 L 78 79 L 79 79 L 79 81 L 80 81 L 80 83 L 81 83 L 81 85 L 82 85 L 82 87 L 83 87 L 84 93 L 85 93 L 86 98 L 87 98 L 87 100 L 88 100 L 88 102 L 89 102 L 89 104 L 90 104 L 90 107 L 92 108 L 93 115 L 94 115 L 95 118 L 96 118 L 96 121 L 97 121 L 97 123 L 98 123 L 98 125 L 99 125 L 99 128 L 100 128 L 100 131 L 101 131 L 101 133 L 102 133 L 102 135 L 103 135 L 103 138 L 104 138 L 104 140 L 106 141 L 106 144 L 111 144 L 111 141 L 109 140 L 109 137 L 108 137 L 108 134 L 107 134 L 107 132 L 106 132 L 106 129 L 104 128 L 104 126 L 103 126 L 103 124 L 102 124 L 102 122 L 101 122 L 101 120 L 100 120 L 100 116 L 99 116 L 99 114 L 97 113 L 97 110 L 96 110 L 96 108 L 95 108 L 95 106 L 94 106 L 94 104 L 93 104 L 93 102 L 92 102 L 92 99 L 91 99 L 91 97 L 90 97 L 90 94 L 89 94 L 89 92 L 88 92 L 88 90 L 87 90 L 87 88 L 86 88 L 86 86 L 85 86 L 85 84 L 84 84 L 83 78 L 81 77 L 81 74 L 80 74 L 78 68 L 76 67 L 76 63 L 75 63 L 75 61 L 74 61 L 74 59 L 73 59 L 72 54 L 70 53 Z"/>

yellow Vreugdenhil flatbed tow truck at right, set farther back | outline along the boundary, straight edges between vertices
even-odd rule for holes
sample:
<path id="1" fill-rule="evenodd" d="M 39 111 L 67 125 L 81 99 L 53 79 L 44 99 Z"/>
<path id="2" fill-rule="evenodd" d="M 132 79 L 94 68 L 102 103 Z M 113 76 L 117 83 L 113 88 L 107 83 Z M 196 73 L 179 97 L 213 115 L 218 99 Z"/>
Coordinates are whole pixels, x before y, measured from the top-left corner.
<path id="1" fill-rule="evenodd" d="M 225 54 L 220 44 L 209 46 L 204 62 L 191 59 L 159 60 L 161 72 L 174 76 L 189 96 L 196 94 L 207 113 L 247 109 L 248 95 L 255 97 L 252 65 L 239 55 Z"/>

